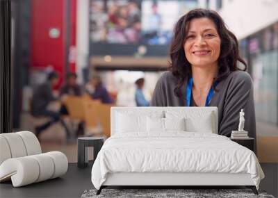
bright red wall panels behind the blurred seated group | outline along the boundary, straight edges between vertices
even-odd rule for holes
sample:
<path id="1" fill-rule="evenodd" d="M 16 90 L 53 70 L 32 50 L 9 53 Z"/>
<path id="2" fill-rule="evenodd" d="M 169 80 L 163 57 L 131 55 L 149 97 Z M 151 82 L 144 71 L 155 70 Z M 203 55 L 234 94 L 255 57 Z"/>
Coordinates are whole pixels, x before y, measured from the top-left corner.
<path id="1" fill-rule="evenodd" d="M 44 68 L 52 65 L 60 74 L 60 83 L 65 76 L 66 1 L 31 1 L 31 67 Z M 76 46 L 76 0 L 70 1 L 70 71 L 75 71 Z M 49 36 L 49 30 L 57 28 L 57 38 Z"/>

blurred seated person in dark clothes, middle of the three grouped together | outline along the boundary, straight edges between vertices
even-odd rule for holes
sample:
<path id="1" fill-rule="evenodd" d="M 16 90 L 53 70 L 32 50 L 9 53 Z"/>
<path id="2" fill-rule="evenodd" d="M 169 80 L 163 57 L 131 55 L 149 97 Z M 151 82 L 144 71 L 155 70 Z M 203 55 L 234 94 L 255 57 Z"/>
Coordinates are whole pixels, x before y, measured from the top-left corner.
<path id="1" fill-rule="evenodd" d="M 67 79 L 65 83 L 60 88 L 60 98 L 62 101 L 65 101 L 68 96 L 81 96 L 83 94 L 83 90 L 81 85 L 76 82 L 77 75 L 74 72 L 69 72 L 67 74 Z M 60 109 L 60 114 L 68 115 L 67 108 L 63 104 Z"/>

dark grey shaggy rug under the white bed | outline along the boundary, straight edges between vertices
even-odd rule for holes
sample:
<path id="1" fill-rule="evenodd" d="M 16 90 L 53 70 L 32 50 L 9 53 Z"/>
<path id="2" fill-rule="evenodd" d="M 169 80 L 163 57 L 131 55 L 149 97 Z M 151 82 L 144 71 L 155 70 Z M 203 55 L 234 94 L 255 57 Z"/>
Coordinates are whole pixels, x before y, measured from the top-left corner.
<path id="1" fill-rule="evenodd" d="M 85 190 L 81 198 L 92 197 L 190 197 L 190 198 L 206 198 L 206 197 L 262 197 L 275 198 L 272 195 L 267 195 L 265 191 L 259 191 L 259 195 L 254 195 L 250 189 L 103 189 L 100 195 L 96 195 L 97 190 Z"/>

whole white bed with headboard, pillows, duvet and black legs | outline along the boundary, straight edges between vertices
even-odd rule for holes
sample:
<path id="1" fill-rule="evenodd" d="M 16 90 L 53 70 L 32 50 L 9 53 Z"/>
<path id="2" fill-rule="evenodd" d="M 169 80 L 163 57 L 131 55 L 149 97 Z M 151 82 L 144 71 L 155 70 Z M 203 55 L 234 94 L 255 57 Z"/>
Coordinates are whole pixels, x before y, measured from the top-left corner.
<path id="1" fill-rule="evenodd" d="M 218 135 L 216 107 L 113 107 L 111 138 L 92 166 L 92 183 L 245 185 L 257 194 L 256 155 Z"/>

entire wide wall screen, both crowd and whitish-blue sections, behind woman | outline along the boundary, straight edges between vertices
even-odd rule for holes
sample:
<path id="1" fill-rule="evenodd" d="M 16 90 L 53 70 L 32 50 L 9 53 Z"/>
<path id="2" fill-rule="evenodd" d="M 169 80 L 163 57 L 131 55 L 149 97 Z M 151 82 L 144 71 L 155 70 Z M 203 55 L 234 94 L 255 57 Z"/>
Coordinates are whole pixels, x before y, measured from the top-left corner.
<path id="1" fill-rule="evenodd" d="M 165 45 L 181 15 L 197 0 L 90 1 L 90 40 L 106 44 Z"/>

